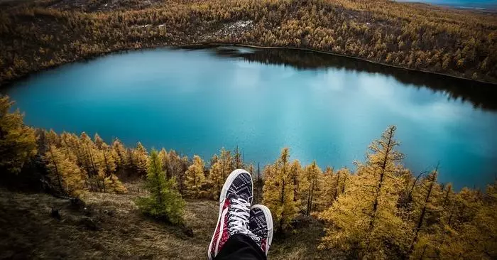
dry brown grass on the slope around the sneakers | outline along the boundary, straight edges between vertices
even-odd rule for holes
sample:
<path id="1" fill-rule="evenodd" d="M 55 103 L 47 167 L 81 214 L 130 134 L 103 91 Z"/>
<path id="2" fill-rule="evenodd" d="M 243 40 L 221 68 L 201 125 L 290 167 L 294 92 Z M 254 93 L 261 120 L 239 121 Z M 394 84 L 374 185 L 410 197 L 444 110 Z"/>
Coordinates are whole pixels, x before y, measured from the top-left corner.
<path id="1" fill-rule="evenodd" d="M 133 189 L 134 188 L 134 189 Z M 138 212 L 130 193 L 84 195 L 86 210 L 74 210 L 70 200 L 46 194 L 13 193 L 0 189 L 0 259 L 206 259 L 217 221 L 213 200 L 188 200 L 185 220 L 194 235 L 155 222 Z M 59 209 L 61 220 L 50 216 Z M 82 220 L 91 219 L 97 226 Z M 322 226 L 315 220 L 284 239 L 276 238 L 271 259 L 329 259 L 316 250 Z"/>

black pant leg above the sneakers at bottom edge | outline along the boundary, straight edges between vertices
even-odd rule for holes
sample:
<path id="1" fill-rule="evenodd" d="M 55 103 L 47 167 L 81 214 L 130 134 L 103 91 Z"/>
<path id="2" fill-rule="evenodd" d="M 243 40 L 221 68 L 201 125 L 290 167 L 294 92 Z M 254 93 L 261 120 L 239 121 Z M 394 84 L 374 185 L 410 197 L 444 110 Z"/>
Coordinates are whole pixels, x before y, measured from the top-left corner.
<path id="1" fill-rule="evenodd" d="M 253 242 L 253 240 L 246 234 L 234 234 L 229 237 L 226 244 L 215 260 L 266 260 L 266 254 L 262 251 L 261 247 Z"/>

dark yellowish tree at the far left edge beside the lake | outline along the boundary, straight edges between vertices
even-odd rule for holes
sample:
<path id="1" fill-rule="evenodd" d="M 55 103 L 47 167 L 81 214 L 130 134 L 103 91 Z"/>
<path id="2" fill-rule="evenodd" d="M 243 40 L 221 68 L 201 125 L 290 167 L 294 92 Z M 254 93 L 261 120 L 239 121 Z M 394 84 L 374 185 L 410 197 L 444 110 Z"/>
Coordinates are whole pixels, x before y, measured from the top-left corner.
<path id="1" fill-rule="evenodd" d="M 9 112 L 13 102 L 0 96 L 0 171 L 19 173 L 36 154 L 35 131 L 23 124 L 23 114 Z"/>

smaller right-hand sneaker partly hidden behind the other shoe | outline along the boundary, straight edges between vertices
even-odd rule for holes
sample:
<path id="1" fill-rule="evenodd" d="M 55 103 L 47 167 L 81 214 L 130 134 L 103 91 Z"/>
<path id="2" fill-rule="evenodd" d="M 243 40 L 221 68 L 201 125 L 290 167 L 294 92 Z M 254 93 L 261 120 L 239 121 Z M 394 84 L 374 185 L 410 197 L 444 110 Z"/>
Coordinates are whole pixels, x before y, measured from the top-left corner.
<path id="1" fill-rule="evenodd" d="M 271 242 L 273 242 L 273 217 L 271 217 L 271 211 L 268 207 L 258 204 L 252 206 L 249 229 L 257 237 L 253 241 L 261 247 L 267 256 Z"/>

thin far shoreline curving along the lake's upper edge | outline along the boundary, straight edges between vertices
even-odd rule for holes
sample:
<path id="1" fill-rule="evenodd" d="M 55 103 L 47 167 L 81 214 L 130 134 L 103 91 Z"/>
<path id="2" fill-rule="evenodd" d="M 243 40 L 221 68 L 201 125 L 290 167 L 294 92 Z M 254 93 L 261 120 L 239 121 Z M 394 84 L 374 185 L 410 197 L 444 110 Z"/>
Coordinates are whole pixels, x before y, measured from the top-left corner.
<path id="1" fill-rule="evenodd" d="M 20 77 L 16 77 L 13 80 L 6 80 L 6 81 L 0 83 L 0 90 L 5 90 L 5 89 L 11 87 L 12 85 L 15 85 L 16 83 L 18 83 L 18 82 L 20 82 L 22 80 L 26 80 L 28 77 L 36 75 L 36 74 L 38 74 L 40 72 L 45 72 L 47 70 L 52 70 L 52 69 L 55 69 L 55 68 L 60 67 L 62 65 L 67 65 L 67 64 L 71 64 L 71 63 L 85 63 L 85 62 L 89 62 L 91 60 L 94 60 L 94 59 L 97 59 L 97 58 L 101 58 L 101 57 L 104 57 L 106 55 L 113 55 L 113 54 L 119 54 L 119 53 L 127 53 L 127 52 L 130 52 L 130 51 L 151 50 L 151 49 L 155 49 L 155 48 L 192 48 L 192 47 L 202 47 L 202 46 L 204 46 L 204 47 L 209 47 L 209 46 L 211 46 L 211 47 L 212 46 L 214 46 L 214 47 L 234 46 L 234 47 L 246 47 L 246 48 L 253 48 L 253 49 L 261 49 L 261 50 L 262 49 L 266 49 L 266 50 L 269 49 L 269 50 L 308 51 L 308 52 L 312 52 L 312 53 L 320 53 L 320 54 L 324 54 L 324 55 L 334 55 L 334 56 L 343 57 L 343 58 L 350 58 L 350 59 L 354 59 L 354 60 L 361 60 L 361 61 L 366 62 L 366 63 L 372 63 L 372 64 L 379 65 L 379 66 L 393 67 L 393 68 L 396 68 L 396 69 L 399 69 L 399 70 L 408 70 L 408 71 L 413 71 L 413 72 L 429 73 L 431 75 L 439 75 L 439 76 L 443 76 L 443 77 L 452 77 L 452 78 L 458 79 L 458 80 L 466 80 L 466 81 L 469 81 L 469 82 L 477 82 L 479 84 L 494 85 L 494 86 L 497 87 L 497 82 L 488 82 L 488 81 L 484 81 L 484 80 L 474 80 L 474 79 L 471 79 L 471 78 L 461 77 L 461 76 L 457 76 L 457 75 L 450 75 L 450 74 L 446 74 L 446 73 L 442 73 L 442 72 L 433 72 L 433 71 L 430 71 L 430 70 L 418 70 L 418 69 L 413 69 L 413 68 L 409 68 L 409 67 L 401 67 L 401 66 L 398 66 L 398 65 L 391 65 L 391 64 L 387 64 L 387 63 L 380 63 L 380 62 L 373 61 L 373 60 L 367 60 L 367 59 L 364 59 L 364 58 L 359 58 L 359 57 L 354 57 L 354 56 L 344 55 L 344 54 L 339 54 L 339 53 L 327 52 L 327 51 L 324 51 L 324 50 L 314 50 L 314 49 L 310 49 L 310 48 L 296 48 L 296 47 L 262 46 L 262 45 L 251 45 L 251 44 L 245 44 L 245 43 L 220 43 L 220 42 L 211 42 L 211 43 L 190 43 L 190 44 L 178 44 L 178 45 L 156 45 L 156 46 L 143 47 L 143 48 L 124 48 L 124 49 L 110 50 L 110 51 L 106 51 L 106 52 L 102 52 L 102 53 L 96 53 L 94 55 L 88 55 L 86 57 L 82 57 L 82 58 L 79 58 L 79 59 L 70 60 L 67 63 L 60 63 L 60 64 L 56 64 L 56 65 L 49 66 L 49 67 L 43 67 L 40 70 L 33 70 L 31 72 L 27 72 L 24 75 L 21 75 Z"/>

